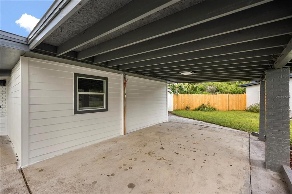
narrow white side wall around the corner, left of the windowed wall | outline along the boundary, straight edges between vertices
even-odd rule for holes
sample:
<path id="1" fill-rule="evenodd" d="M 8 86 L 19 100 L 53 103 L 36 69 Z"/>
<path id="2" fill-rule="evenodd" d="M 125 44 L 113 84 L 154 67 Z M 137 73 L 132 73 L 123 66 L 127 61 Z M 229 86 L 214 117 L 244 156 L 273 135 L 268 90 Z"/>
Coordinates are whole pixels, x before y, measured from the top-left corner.
<path id="1" fill-rule="evenodd" d="M 21 64 L 15 65 L 6 83 L 8 136 L 21 158 Z"/>

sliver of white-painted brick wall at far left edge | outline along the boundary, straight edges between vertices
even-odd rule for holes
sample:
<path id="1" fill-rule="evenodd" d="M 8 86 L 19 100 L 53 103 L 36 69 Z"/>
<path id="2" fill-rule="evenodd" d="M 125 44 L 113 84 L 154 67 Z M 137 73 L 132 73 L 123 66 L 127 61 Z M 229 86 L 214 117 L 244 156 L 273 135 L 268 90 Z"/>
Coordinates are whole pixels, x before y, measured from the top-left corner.
<path id="1" fill-rule="evenodd" d="M 7 133 L 7 89 L 6 86 L 0 86 L 0 135 Z"/>

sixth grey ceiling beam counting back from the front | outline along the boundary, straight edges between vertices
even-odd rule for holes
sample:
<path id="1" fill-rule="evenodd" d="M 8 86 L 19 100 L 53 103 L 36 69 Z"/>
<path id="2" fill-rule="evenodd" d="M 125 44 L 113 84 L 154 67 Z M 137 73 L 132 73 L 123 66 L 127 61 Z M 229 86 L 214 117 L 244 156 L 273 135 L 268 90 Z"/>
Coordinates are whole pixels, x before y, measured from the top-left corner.
<path id="1" fill-rule="evenodd" d="M 216 62 L 222 62 L 225 61 L 226 63 L 230 63 L 234 60 L 241 61 L 253 61 L 261 59 L 260 57 L 267 57 L 271 56 L 272 54 L 279 54 L 283 50 L 283 47 L 275 47 L 275 48 L 268 48 L 268 49 L 262 49 L 262 50 L 255 50 L 255 51 L 247 51 L 247 52 L 240 52 L 240 53 L 234 53 L 234 54 L 227 54 L 227 55 L 220 55 L 215 57 L 205 57 L 200 59 L 192 59 L 187 61 L 179 61 L 179 62 L 173 62 L 173 63 L 166 63 L 166 64 L 159 64 L 159 65 L 152 65 L 152 66 L 145 66 L 145 67 L 138 67 L 138 68 L 131 68 L 129 69 L 129 72 L 141 72 L 143 73 L 145 70 L 164 70 L 168 68 L 176 68 L 179 66 L 188 66 L 192 64 L 202 64 L 202 63 L 216 63 Z M 270 57 L 270 59 L 272 59 Z"/>

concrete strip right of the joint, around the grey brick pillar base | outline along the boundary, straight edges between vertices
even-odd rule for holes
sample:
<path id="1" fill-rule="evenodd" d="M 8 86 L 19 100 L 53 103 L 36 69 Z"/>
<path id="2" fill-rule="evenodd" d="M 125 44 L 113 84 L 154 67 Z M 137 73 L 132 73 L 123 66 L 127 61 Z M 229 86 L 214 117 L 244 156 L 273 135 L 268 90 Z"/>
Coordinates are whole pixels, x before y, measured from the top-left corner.
<path id="1" fill-rule="evenodd" d="M 289 193 L 281 173 L 265 168 L 265 142 L 250 136 L 252 193 Z"/>

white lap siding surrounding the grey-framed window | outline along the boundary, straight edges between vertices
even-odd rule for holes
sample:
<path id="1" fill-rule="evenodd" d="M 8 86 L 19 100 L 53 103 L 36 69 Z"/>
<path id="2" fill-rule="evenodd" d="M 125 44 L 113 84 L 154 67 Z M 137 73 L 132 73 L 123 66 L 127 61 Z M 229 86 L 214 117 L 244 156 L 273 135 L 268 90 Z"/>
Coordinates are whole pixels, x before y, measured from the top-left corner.
<path id="1" fill-rule="evenodd" d="M 109 111 L 73 112 L 74 73 L 108 77 Z M 29 164 L 122 133 L 120 74 L 29 58 Z"/>

